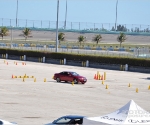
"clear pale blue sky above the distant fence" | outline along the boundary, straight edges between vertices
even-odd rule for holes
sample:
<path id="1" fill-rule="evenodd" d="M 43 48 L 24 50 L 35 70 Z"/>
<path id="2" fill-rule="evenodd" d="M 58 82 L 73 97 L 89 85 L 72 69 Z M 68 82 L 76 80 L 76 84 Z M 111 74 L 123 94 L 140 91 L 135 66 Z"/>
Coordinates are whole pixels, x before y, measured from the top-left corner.
<path id="1" fill-rule="evenodd" d="M 59 0 L 59 21 L 66 0 Z M 116 0 L 67 0 L 68 22 L 115 23 Z M 16 19 L 17 0 L 0 0 L 0 20 Z M 150 0 L 118 0 L 119 24 L 150 24 Z M 18 0 L 18 19 L 57 20 L 57 0 Z M 1 23 L 1 22 L 0 22 Z"/>

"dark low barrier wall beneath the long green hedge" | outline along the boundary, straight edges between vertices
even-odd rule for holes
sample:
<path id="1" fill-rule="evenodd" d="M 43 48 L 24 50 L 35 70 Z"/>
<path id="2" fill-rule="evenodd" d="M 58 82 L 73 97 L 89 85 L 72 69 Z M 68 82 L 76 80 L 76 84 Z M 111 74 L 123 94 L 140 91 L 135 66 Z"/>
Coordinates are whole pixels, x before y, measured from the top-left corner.
<path id="1" fill-rule="evenodd" d="M 4 54 L 5 55 L 5 54 Z M 2 54 L 0 54 L 0 58 L 4 59 L 2 57 Z M 20 60 L 20 56 L 16 55 L 9 55 L 8 59 L 11 60 Z M 26 57 L 26 61 L 31 61 L 31 62 L 38 62 L 38 57 Z M 43 58 L 42 58 L 43 59 Z M 50 59 L 47 58 L 46 60 L 43 60 L 45 63 L 51 63 L 51 64 L 60 64 L 59 59 Z M 65 59 L 63 60 L 65 61 Z M 110 70 L 120 70 L 120 65 L 117 64 L 100 64 L 100 63 L 93 63 L 89 62 L 88 60 L 85 63 L 85 67 L 90 67 L 90 68 L 101 68 L 101 69 L 110 69 Z M 74 60 L 67 60 L 65 65 L 72 65 L 72 66 L 81 66 L 82 61 L 74 61 Z M 125 66 L 125 65 L 124 65 Z M 126 67 L 127 68 L 127 67 Z M 128 71 L 131 72 L 142 72 L 142 73 L 150 73 L 150 68 L 145 68 L 145 67 L 135 67 L 135 66 L 128 66 Z"/>

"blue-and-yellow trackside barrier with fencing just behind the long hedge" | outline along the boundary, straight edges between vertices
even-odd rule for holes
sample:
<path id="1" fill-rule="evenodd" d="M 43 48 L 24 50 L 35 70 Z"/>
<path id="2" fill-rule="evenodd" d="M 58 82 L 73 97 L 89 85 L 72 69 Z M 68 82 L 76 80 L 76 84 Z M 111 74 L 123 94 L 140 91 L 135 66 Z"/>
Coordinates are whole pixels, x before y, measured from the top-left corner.
<path id="1" fill-rule="evenodd" d="M 36 50 L 55 52 L 55 45 L 41 45 L 41 44 L 10 44 L 0 43 L 0 48 L 13 48 L 20 50 Z M 79 47 L 79 46 L 59 46 L 59 52 L 76 53 L 86 55 L 103 55 L 103 56 L 117 56 L 117 57 L 134 57 L 134 58 L 150 58 L 149 48 L 113 48 L 113 47 Z"/>

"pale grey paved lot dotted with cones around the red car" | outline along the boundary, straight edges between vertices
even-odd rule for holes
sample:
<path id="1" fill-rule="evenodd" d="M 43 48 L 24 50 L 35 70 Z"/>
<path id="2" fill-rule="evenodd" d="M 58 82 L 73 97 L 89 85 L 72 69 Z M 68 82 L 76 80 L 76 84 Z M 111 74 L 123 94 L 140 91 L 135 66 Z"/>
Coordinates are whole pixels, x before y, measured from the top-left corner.
<path id="1" fill-rule="evenodd" d="M 0 59 L 1 119 L 19 125 L 43 125 L 69 114 L 105 115 L 124 106 L 131 99 L 150 112 L 149 74 L 25 63 L 22 65 L 22 61 Z M 61 71 L 75 71 L 88 81 L 85 85 L 57 83 L 52 77 Z M 97 71 L 100 75 L 106 72 L 104 85 L 102 80 L 94 79 Z M 19 78 L 25 75 L 29 78 Z M 129 83 L 131 87 L 128 87 Z"/>

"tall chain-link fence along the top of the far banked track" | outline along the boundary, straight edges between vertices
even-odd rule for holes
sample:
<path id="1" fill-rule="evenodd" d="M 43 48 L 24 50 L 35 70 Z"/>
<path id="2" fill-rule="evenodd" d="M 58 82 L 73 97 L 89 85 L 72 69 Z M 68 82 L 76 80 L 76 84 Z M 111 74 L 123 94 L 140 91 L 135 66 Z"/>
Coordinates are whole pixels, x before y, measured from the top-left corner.
<path id="1" fill-rule="evenodd" d="M 15 28 L 40 28 L 40 29 L 56 29 L 56 21 L 46 21 L 46 20 L 23 20 L 18 19 L 16 24 L 15 19 L 4 19 L 0 18 L 0 26 L 15 27 Z M 115 24 L 112 23 L 88 23 L 88 22 L 59 22 L 59 29 L 63 30 L 77 30 L 83 32 L 108 32 L 116 33 L 117 31 L 122 31 L 130 34 L 142 33 L 143 35 L 150 35 L 150 25 L 141 24 L 117 24 L 115 29 Z"/>

